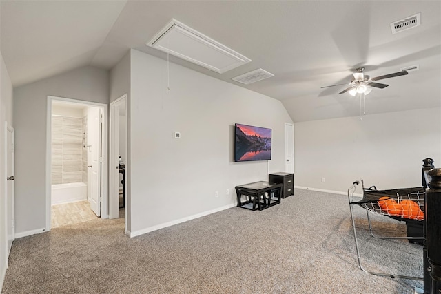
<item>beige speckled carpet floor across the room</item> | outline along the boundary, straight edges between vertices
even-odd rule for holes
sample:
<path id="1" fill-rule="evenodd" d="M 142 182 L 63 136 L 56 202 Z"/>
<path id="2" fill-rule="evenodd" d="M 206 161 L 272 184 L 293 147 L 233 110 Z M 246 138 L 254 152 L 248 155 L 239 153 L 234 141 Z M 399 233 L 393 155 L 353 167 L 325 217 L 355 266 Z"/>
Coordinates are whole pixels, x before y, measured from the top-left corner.
<path id="1" fill-rule="evenodd" d="M 422 277 L 422 246 L 371 238 L 371 271 Z M 404 222 L 373 216 L 380 231 Z M 90 220 L 15 240 L 3 293 L 413 293 L 422 282 L 358 268 L 346 196 L 296 189 L 264 211 L 234 207 L 136 238 L 124 220 Z"/>

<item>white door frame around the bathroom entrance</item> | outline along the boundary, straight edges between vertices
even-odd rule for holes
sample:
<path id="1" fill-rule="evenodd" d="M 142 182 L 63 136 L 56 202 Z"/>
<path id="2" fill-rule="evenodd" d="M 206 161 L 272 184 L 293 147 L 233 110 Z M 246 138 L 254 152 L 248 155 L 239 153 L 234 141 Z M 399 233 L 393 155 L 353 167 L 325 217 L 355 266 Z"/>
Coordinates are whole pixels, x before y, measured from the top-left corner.
<path id="1" fill-rule="evenodd" d="M 104 103 L 97 103 L 92 101 L 83 101 L 72 98 L 63 98 L 57 96 L 48 96 L 47 101 L 47 116 L 46 116 L 46 230 L 50 231 L 51 229 L 51 157 L 52 157 L 52 101 L 63 101 L 72 104 L 83 104 L 90 105 L 94 107 L 99 107 L 102 110 L 103 114 L 103 129 L 102 129 L 102 145 L 101 145 L 101 154 L 102 154 L 102 167 L 101 167 L 101 218 L 109 217 L 108 210 L 108 200 L 109 193 L 107 191 L 108 187 L 108 156 L 107 156 L 107 109 L 108 105 Z"/>

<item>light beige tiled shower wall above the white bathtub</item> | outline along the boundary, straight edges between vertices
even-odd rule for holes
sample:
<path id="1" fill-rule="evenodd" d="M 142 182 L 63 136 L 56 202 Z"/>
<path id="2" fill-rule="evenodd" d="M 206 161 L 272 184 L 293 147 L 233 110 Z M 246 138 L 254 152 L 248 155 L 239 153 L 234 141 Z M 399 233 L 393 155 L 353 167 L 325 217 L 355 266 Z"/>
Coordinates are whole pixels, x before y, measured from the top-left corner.
<path id="1" fill-rule="evenodd" d="M 52 116 L 52 185 L 87 183 L 87 154 L 83 151 L 86 149 L 83 147 L 85 129 L 84 118 Z"/>

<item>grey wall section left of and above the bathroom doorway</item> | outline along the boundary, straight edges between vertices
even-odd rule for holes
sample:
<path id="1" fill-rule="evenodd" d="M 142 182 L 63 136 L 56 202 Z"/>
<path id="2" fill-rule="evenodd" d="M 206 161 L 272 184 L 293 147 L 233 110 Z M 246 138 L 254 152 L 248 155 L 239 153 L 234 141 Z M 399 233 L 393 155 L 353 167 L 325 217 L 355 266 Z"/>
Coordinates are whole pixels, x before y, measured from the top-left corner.
<path id="1" fill-rule="evenodd" d="M 109 73 L 81 67 L 14 89 L 15 224 L 18 235 L 45 230 L 48 96 L 109 103 Z"/>

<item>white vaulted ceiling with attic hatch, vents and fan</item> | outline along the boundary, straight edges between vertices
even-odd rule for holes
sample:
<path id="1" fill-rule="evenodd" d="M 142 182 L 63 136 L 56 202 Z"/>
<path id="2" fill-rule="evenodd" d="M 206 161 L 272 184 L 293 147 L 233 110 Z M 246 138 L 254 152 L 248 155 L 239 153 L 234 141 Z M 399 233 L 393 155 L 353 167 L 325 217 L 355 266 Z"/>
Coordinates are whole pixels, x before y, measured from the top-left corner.
<path id="1" fill-rule="evenodd" d="M 282 101 L 298 121 L 358 116 L 360 99 L 337 94 L 357 67 L 382 80 L 365 99 L 367 114 L 441 105 L 441 1 L 4 1 L 1 54 L 14 87 L 77 67 L 110 70 L 147 47 L 176 19 L 252 59 L 223 74 L 170 61 Z M 392 34 L 390 23 L 421 13 L 421 25 Z M 274 74 L 243 85 L 231 78 L 263 68 Z M 209 98 L 209 97 L 207 97 Z"/>

